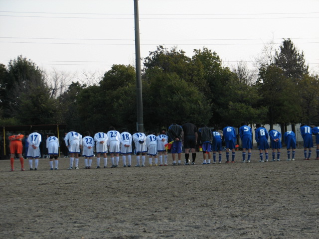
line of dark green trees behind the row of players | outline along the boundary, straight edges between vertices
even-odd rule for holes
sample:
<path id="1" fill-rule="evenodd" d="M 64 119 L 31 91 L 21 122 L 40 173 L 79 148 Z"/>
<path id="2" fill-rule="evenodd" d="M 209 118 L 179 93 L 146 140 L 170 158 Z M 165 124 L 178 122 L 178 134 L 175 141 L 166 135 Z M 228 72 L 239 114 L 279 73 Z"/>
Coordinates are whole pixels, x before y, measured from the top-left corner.
<path id="1" fill-rule="evenodd" d="M 311 75 L 304 53 L 283 39 L 274 55 L 260 58 L 255 77 L 242 62 L 222 65 L 203 47 L 188 57 L 176 47 L 158 46 L 143 59 L 145 130 L 186 120 L 215 128 L 248 123 L 319 125 L 319 77 Z M 113 65 L 101 81 L 78 81 L 65 90 L 49 84 L 45 73 L 18 56 L 0 64 L 0 124 L 67 124 L 79 132 L 109 126 L 136 130 L 136 72 Z"/>

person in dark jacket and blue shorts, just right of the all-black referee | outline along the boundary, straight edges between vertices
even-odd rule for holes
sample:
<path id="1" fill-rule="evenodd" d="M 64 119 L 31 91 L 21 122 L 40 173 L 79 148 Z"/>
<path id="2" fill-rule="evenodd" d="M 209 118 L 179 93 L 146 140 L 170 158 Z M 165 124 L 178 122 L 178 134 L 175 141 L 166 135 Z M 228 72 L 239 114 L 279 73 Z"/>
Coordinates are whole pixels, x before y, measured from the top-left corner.
<path id="1" fill-rule="evenodd" d="M 211 144 L 212 144 L 212 132 L 211 130 L 205 125 L 205 124 L 201 124 L 200 128 L 198 129 L 198 138 L 200 141 L 200 145 L 202 147 L 203 150 L 203 163 L 202 164 L 210 164 L 210 160 L 211 160 Z M 206 162 L 206 154 L 208 156 L 208 162 Z"/>

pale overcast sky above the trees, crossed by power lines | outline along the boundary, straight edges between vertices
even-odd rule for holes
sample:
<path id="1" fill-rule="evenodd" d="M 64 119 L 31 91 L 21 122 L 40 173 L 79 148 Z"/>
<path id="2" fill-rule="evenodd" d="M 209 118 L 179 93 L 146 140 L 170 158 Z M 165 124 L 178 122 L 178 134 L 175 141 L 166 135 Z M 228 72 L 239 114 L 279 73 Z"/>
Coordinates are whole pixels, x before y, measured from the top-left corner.
<path id="1" fill-rule="evenodd" d="M 224 65 L 252 65 L 264 44 L 291 38 L 319 73 L 319 0 L 139 0 L 141 56 L 203 46 Z M 46 71 L 135 65 L 134 0 L 0 0 L 0 63 L 18 55 Z"/>

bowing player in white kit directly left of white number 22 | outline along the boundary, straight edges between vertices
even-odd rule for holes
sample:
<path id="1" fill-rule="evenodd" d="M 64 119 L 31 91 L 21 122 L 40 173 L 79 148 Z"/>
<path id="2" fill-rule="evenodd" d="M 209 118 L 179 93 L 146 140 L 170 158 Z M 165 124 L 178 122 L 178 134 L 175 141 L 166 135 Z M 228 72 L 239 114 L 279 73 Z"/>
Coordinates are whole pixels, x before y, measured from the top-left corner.
<path id="1" fill-rule="evenodd" d="M 65 135 L 64 141 L 70 153 L 70 166 L 68 169 L 73 169 L 74 157 L 75 157 L 75 169 L 80 169 L 79 168 L 79 153 L 81 151 L 82 135 L 79 134 L 78 132 L 71 130 Z"/>

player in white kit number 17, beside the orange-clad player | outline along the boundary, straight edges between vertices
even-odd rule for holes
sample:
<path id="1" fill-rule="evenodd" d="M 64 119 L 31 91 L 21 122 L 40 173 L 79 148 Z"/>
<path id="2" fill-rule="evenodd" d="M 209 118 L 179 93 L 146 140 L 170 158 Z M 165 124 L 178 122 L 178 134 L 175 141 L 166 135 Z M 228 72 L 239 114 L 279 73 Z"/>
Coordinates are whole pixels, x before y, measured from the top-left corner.
<path id="1" fill-rule="evenodd" d="M 41 143 L 41 134 L 38 131 L 34 131 L 29 134 L 27 141 L 29 143 L 27 157 L 29 158 L 29 166 L 30 170 L 33 170 L 32 167 L 32 159 L 34 158 L 34 170 L 38 170 L 39 165 L 39 157 L 40 157 L 40 148 L 39 145 Z"/>

